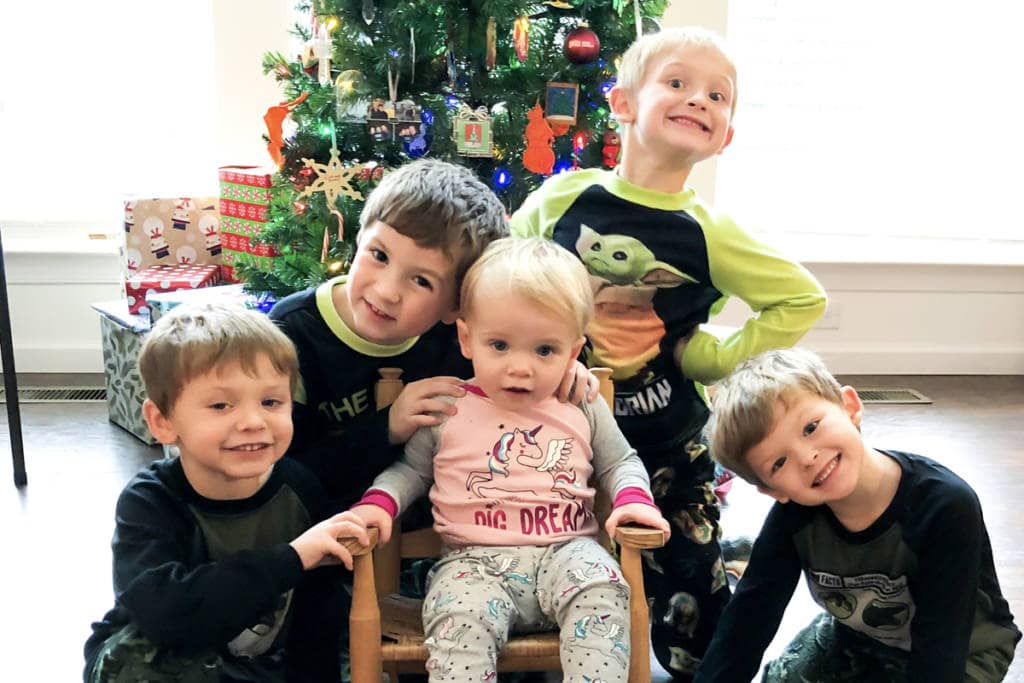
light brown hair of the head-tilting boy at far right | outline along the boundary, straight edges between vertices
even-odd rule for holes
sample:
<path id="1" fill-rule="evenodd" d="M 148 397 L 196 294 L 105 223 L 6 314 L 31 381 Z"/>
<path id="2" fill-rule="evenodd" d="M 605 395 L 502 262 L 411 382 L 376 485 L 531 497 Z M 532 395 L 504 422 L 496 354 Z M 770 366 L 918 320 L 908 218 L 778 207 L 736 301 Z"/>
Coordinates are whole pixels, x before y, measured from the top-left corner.
<path id="1" fill-rule="evenodd" d="M 843 405 L 842 386 L 821 358 L 807 349 L 775 349 L 739 364 L 713 392 L 707 432 L 715 460 L 746 481 L 767 487 L 746 457 L 771 431 L 779 409 L 788 408 L 798 394 Z"/>

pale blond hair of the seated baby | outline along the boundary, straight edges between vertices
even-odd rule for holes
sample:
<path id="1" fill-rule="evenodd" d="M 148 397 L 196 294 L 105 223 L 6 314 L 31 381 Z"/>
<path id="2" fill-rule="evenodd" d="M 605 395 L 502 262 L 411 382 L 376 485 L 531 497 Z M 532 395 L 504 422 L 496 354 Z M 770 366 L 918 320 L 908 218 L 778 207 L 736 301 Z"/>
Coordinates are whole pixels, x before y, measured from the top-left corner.
<path id="1" fill-rule="evenodd" d="M 594 316 L 590 276 L 579 258 L 542 238 L 505 238 L 484 250 L 462 284 L 463 317 L 496 292 L 521 296 L 558 317 L 572 321 L 584 335 Z"/>

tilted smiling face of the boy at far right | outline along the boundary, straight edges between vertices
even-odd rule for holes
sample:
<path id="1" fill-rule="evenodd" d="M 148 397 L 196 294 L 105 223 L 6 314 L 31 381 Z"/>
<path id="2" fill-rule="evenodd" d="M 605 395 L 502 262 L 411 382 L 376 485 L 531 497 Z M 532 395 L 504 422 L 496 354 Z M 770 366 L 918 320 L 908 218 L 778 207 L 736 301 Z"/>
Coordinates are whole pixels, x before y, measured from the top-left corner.
<path id="1" fill-rule="evenodd" d="M 836 503 L 851 496 L 867 446 L 860 434 L 863 408 L 852 387 L 843 405 L 800 392 L 779 402 L 771 431 L 746 454 L 748 464 L 780 503 Z"/>

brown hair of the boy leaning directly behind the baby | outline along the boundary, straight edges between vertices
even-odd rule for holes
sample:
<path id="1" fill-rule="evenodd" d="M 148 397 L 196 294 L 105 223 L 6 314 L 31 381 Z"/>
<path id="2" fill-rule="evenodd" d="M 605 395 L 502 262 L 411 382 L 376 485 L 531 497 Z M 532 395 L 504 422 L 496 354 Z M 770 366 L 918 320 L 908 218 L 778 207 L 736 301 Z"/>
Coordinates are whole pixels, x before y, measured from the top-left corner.
<path id="1" fill-rule="evenodd" d="M 455 265 L 455 291 L 494 240 L 509 233 L 505 207 L 464 166 L 422 159 L 384 176 L 359 214 L 359 234 L 380 221 Z M 356 236 L 358 242 L 359 236 Z"/>

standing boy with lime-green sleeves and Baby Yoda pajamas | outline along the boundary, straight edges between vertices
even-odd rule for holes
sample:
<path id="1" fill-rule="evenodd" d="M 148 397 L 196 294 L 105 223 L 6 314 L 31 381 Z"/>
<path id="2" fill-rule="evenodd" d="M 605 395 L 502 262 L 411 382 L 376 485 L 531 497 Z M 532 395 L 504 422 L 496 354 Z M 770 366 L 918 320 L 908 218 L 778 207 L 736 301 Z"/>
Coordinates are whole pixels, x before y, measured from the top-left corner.
<path id="1" fill-rule="evenodd" d="M 554 240 L 590 273 L 596 314 L 587 358 L 612 369 L 615 419 L 674 525 L 645 581 L 654 653 L 685 680 L 729 596 L 701 385 L 759 351 L 796 343 L 824 312 L 825 296 L 799 263 L 686 186 L 695 164 L 732 141 L 736 70 L 721 39 L 695 28 L 640 38 L 623 55 L 609 98 L 618 167 L 549 179 L 512 217 L 512 231 Z M 719 339 L 701 326 L 730 296 L 756 315 Z"/>

